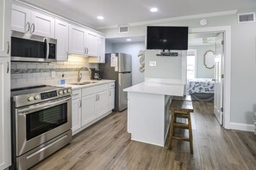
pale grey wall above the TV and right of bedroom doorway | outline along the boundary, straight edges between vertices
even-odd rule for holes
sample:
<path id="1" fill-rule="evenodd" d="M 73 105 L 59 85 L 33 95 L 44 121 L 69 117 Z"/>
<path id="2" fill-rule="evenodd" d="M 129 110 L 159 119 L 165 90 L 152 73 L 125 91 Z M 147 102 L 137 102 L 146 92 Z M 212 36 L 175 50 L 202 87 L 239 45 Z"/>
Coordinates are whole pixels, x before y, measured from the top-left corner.
<path id="1" fill-rule="evenodd" d="M 238 13 L 256 12 L 256 9 L 239 10 Z M 231 26 L 231 122 L 253 124 L 256 112 L 256 22 L 238 24 L 237 15 L 205 17 L 207 26 Z M 157 25 L 203 27 L 201 18 L 170 21 Z M 118 28 L 101 30 L 108 37 L 120 37 Z M 131 27 L 129 36 L 145 36 L 146 26 Z M 126 34 L 122 36 L 127 36 Z"/>

